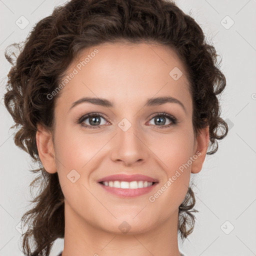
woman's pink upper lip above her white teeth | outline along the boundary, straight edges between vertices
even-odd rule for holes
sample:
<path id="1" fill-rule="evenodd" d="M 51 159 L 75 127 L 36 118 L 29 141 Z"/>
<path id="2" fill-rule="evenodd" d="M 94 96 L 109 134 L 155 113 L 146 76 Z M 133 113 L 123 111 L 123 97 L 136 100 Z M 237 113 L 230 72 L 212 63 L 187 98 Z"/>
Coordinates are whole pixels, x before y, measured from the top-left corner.
<path id="1" fill-rule="evenodd" d="M 118 181 L 148 181 L 148 182 L 158 182 L 157 179 L 145 176 L 142 174 L 132 174 L 132 175 L 127 175 L 127 174 L 114 174 L 110 176 L 106 176 L 103 178 L 100 178 L 97 182 L 102 182 L 102 181 L 111 181 L 111 180 L 118 180 Z"/>

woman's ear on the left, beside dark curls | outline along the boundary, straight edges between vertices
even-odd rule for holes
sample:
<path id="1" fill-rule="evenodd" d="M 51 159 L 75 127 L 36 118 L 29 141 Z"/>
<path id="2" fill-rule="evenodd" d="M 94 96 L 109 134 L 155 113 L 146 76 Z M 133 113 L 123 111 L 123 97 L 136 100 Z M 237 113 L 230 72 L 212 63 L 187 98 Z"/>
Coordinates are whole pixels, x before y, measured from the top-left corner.
<path id="1" fill-rule="evenodd" d="M 53 148 L 52 134 L 43 125 L 38 124 L 36 130 L 36 145 L 38 155 L 44 169 L 49 173 L 57 171 L 55 165 L 55 153 Z"/>

